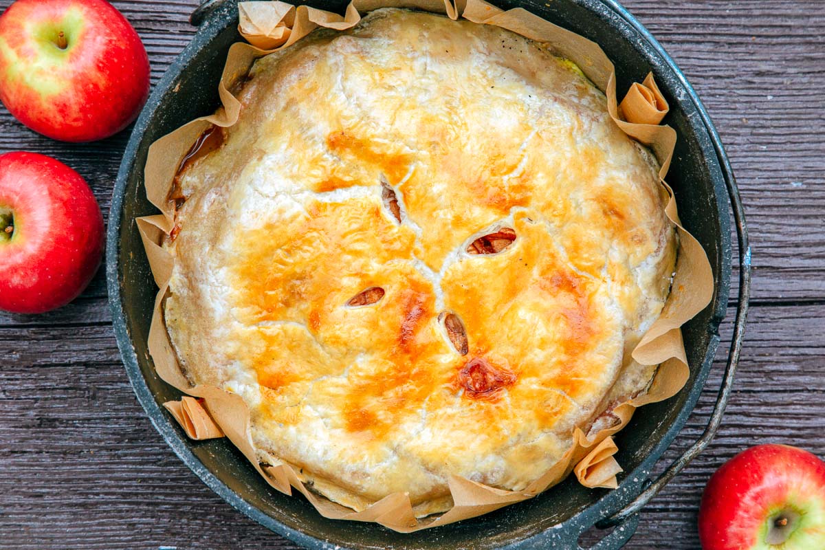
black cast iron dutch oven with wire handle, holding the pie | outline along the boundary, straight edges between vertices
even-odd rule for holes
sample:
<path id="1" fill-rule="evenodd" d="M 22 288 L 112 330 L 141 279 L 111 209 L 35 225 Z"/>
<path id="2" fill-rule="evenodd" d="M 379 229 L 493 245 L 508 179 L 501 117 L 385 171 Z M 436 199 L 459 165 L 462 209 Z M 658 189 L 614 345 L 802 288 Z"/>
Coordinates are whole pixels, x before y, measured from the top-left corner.
<path id="1" fill-rule="evenodd" d="M 310 0 L 314 7 L 342 12 L 347 0 Z M 155 374 L 146 347 L 157 288 L 134 219 L 154 214 L 144 191 L 144 163 L 154 140 L 218 105 L 217 83 L 229 46 L 238 36 L 237 0 L 208 0 L 192 16 L 199 30 L 169 68 L 140 115 L 120 165 L 109 218 L 107 275 L 120 353 L 134 392 L 153 425 L 193 472 L 250 518 L 308 548 L 579 548 L 578 538 L 594 524 L 615 526 L 596 550 L 621 548 L 634 534 L 639 510 L 699 454 L 719 426 L 742 344 L 750 288 L 750 249 L 738 190 L 719 136 L 690 84 L 672 59 L 615 0 L 498 0 L 502 8 L 524 7 L 601 45 L 616 65 L 618 89 L 628 78 L 652 70 L 671 104 L 665 120 L 679 140 L 667 180 L 676 191 L 686 228 L 707 251 L 714 270 L 712 303 L 684 327 L 691 378 L 681 393 L 642 407 L 620 432 L 619 463 L 625 468 L 615 491 L 591 490 L 568 478 L 530 501 L 458 524 L 397 534 L 377 524 L 324 519 L 301 496 L 271 489 L 228 440 L 188 440 L 160 404 L 179 398 Z M 323 101 L 323 98 L 318 98 Z M 719 398 L 705 434 L 655 480 L 653 465 L 695 407 L 719 345 L 719 324 L 728 307 L 732 207 L 739 248 L 739 299 L 733 343 Z"/>

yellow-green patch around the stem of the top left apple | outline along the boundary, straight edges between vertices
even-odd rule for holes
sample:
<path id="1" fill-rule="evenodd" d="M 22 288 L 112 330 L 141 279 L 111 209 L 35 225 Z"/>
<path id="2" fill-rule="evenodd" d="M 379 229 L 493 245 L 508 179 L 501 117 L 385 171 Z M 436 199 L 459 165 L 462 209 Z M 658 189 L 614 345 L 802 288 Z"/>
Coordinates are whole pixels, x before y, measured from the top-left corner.
<path id="1" fill-rule="evenodd" d="M 26 36 L 30 39 L 26 45 L 37 50 L 34 59 L 22 58 L 18 50 L 0 37 L 0 55 L 7 59 L 7 78 L 31 87 L 44 97 L 64 92 L 69 82 L 62 73 L 84 28 L 83 14 L 75 8 L 68 9 L 58 21 L 45 24 L 26 21 Z"/>

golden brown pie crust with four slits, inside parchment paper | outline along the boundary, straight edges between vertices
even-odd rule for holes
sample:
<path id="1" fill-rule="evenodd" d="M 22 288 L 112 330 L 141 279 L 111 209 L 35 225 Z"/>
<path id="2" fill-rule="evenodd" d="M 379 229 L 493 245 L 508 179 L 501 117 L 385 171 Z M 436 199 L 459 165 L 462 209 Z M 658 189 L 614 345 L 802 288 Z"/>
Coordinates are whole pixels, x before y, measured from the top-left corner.
<path id="1" fill-rule="evenodd" d="M 605 97 L 493 26 L 380 10 L 259 60 L 188 197 L 167 328 L 262 452 L 361 510 L 520 490 L 653 370 L 676 243 Z"/>

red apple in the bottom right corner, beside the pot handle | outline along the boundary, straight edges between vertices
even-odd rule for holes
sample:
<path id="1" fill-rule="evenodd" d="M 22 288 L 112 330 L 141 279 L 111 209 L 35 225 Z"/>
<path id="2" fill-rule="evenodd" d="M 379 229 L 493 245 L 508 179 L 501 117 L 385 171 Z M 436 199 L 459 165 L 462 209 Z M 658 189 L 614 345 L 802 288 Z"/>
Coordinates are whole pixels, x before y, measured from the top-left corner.
<path id="1" fill-rule="evenodd" d="M 823 550 L 825 463 L 788 445 L 743 451 L 710 477 L 699 535 L 705 550 Z"/>

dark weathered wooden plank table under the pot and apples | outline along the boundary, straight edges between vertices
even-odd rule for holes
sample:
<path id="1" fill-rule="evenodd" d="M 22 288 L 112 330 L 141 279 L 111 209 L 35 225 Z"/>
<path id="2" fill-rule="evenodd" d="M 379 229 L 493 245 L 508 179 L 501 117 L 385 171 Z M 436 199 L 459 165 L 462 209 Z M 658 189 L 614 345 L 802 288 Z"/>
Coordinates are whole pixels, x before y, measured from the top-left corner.
<path id="1" fill-rule="evenodd" d="M 114 2 L 144 39 L 153 82 L 190 40 L 196 2 Z M 747 346 L 724 425 L 644 510 L 628 547 L 698 548 L 701 492 L 726 459 L 767 442 L 825 456 L 825 2 L 625 5 L 713 116 L 754 247 Z M 0 112 L 0 151 L 67 162 L 105 214 L 127 138 L 56 143 Z M 718 381 L 719 369 L 667 457 L 700 434 Z M 0 313 L 0 548 L 295 548 L 214 496 L 149 424 L 120 364 L 103 270 L 57 312 Z"/>

